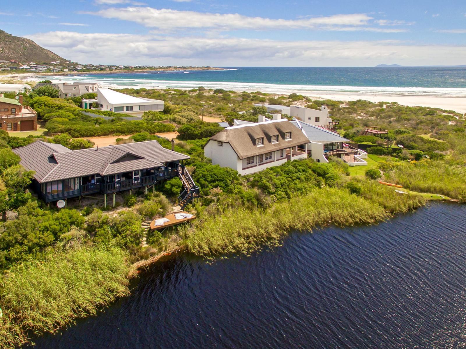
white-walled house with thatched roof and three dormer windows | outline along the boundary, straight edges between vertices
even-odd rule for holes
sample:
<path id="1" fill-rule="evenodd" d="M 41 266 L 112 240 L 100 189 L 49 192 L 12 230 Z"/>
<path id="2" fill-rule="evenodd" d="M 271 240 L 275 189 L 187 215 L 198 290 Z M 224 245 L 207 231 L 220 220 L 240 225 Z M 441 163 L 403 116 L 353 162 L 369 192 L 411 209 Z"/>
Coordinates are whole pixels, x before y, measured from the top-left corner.
<path id="1" fill-rule="evenodd" d="M 308 157 L 308 138 L 281 114 L 265 120 L 230 126 L 213 135 L 204 147 L 212 164 L 248 175 L 286 161 Z"/>

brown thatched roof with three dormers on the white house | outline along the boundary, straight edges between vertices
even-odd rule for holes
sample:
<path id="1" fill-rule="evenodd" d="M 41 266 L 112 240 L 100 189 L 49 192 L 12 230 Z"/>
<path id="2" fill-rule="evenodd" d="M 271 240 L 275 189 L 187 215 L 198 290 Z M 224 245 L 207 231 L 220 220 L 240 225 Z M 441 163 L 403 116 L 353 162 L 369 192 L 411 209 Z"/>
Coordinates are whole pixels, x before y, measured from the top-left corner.
<path id="1" fill-rule="evenodd" d="M 291 139 L 285 141 L 287 132 L 291 133 Z M 273 135 L 278 135 L 277 142 L 272 143 Z M 263 138 L 263 145 L 256 146 L 257 138 Z M 309 143 L 308 138 L 286 119 L 232 126 L 210 139 L 230 143 L 240 159 Z"/>

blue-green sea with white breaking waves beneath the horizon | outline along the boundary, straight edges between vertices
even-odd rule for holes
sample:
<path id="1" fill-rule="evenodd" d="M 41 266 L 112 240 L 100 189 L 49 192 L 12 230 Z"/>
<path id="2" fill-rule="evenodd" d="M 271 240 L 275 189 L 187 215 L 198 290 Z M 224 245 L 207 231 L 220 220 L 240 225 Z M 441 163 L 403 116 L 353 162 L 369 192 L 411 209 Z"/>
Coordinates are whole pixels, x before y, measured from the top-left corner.
<path id="1" fill-rule="evenodd" d="M 466 67 L 228 67 L 224 70 L 55 75 L 101 86 L 225 88 L 303 94 L 359 93 L 466 97 Z M 42 77 L 43 79 L 43 77 Z"/>

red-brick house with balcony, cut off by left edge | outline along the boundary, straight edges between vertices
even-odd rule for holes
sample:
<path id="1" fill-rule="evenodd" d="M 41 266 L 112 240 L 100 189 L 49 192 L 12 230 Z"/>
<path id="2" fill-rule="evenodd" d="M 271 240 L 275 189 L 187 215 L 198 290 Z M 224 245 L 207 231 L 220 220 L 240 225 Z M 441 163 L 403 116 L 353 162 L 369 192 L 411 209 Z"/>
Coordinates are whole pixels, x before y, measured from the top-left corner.
<path id="1" fill-rule="evenodd" d="M 0 94 L 0 129 L 4 131 L 37 131 L 37 113 L 22 105 L 23 96 L 18 100 L 5 98 Z"/>

